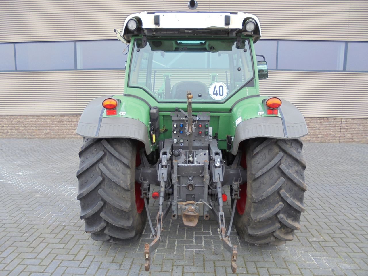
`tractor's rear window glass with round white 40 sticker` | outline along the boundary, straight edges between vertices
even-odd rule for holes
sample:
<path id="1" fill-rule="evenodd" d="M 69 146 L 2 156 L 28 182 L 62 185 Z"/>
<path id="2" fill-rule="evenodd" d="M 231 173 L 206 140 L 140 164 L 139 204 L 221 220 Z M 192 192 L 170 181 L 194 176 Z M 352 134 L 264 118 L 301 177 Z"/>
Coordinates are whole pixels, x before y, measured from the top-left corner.
<path id="1" fill-rule="evenodd" d="M 248 40 L 135 40 L 129 86 L 159 102 L 224 102 L 254 78 Z"/>

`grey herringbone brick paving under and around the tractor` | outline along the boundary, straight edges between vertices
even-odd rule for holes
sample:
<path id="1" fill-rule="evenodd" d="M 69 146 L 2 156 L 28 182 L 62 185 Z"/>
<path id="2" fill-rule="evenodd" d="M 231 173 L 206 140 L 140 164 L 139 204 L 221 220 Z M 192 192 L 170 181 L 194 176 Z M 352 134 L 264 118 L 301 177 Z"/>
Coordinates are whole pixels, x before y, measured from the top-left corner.
<path id="1" fill-rule="evenodd" d="M 124 245 L 91 240 L 76 199 L 80 144 L 0 139 L 0 276 L 234 275 L 214 220 L 194 229 L 166 220 L 149 273 L 149 229 Z M 302 229 L 281 246 L 248 245 L 234 232 L 238 275 L 368 275 L 368 144 L 306 143 L 304 152 Z"/>

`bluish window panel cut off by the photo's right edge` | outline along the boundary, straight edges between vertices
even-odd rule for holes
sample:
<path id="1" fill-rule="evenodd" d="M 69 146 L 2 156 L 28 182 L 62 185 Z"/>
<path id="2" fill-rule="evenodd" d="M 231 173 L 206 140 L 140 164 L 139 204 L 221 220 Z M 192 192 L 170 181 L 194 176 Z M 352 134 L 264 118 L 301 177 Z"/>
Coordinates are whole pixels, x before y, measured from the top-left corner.
<path id="1" fill-rule="evenodd" d="M 348 43 L 346 70 L 368 71 L 368 42 Z"/>

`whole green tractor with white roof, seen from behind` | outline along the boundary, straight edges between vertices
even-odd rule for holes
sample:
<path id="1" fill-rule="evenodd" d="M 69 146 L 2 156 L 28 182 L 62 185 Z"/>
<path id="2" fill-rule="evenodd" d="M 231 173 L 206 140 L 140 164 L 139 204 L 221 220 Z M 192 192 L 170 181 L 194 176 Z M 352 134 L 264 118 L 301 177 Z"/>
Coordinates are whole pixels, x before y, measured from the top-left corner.
<path id="1" fill-rule="evenodd" d="M 77 128 L 85 231 L 98 241 L 137 240 L 148 219 L 147 271 L 168 213 L 186 226 L 216 217 L 233 272 L 233 224 L 248 243 L 293 240 L 307 190 L 299 139 L 307 125 L 292 103 L 259 95 L 268 72 L 264 57 L 256 61 L 258 18 L 144 12 L 114 31 L 130 47 L 124 93 L 92 100 Z M 150 197 L 158 199 L 154 221 Z"/>

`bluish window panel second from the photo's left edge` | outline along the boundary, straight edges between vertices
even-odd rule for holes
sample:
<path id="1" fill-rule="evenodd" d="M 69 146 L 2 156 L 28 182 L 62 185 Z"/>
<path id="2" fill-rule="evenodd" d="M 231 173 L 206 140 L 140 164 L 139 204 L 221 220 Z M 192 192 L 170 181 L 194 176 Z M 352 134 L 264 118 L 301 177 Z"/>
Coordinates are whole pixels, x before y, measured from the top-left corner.
<path id="1" fill-rule="evenodd" d="M 73 42 L 15 43 L 17 70 L 74 69 Z"/>

